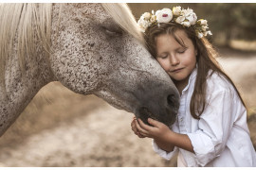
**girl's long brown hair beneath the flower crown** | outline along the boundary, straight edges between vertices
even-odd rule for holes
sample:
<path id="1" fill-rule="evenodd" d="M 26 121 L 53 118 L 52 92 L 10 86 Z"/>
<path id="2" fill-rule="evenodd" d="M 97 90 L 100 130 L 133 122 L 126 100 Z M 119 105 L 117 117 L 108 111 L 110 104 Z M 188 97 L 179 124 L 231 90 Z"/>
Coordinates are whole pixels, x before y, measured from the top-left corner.
<path id="1" fill-rule="evenodd" d="M 176 30 L 184 30 L 188 35 L 188 38 L 192 40 L 194 48 L 197 50 L 196 62 L 197 62 L 197 76 L 195 80 L 194 90 L 192 93 L 190 110 L 192 117 L 199 119 L 200 115 L 205 110 L 207 106 L 206 101 L 206 89 L 207 89 L 207 77 L 218 73 L 221 76 L 227 78 L 230 84 L 234 87 L 236 93 L 238 93 L 243 105 L 245 102 L 235 87 L 234 83 L 230 77 L 222 70 L 218 61 L 215 59 L 217 56 L 216 51 L 213 49 L 212 45 L 206 38 L 199 39 L 192 27 L 183 27 L 175 23 L 162 23 L 155 26 L 149 26 L 145 31 L 145 41 L 150 53 L 156 57 L 156 46 L 155 39 L 157 36 L 162 34 L 169 34 L 174 37 L 174 40 L 184 46 L 185 44 L 182 40 L 178 39 L 175 35 Z"/>

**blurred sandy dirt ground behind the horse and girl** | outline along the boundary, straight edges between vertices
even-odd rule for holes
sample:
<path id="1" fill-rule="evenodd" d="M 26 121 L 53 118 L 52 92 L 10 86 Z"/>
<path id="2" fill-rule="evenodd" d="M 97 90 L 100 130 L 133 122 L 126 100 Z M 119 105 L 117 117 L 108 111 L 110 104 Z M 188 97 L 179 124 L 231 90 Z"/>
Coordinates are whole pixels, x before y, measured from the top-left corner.
<path id="1" fill-rule="evenodd" d="M 224 69 L 248 106 L 248 126 L 256 144 L 256 53 L 220 51 Z M 152 150 L 150 139 L 132 132 L 133 114 L 94 95 L 83 96 L 59 82 L 44 87 L 0 138 L 0 166 L 175 166 Z"/>

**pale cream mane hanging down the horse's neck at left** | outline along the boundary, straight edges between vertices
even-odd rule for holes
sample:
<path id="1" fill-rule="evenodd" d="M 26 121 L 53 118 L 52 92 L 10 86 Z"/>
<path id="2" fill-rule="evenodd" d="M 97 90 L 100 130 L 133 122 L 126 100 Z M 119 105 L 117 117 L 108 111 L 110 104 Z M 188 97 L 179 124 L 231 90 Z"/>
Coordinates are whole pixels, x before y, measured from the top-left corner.
<path id="1" fill-rule="evenodd" d="M 36 53 L 35 41 L 49 50 L 52 4 L 11 3 L 0 6 L 0 86 L 5 85 L 7 60 L 13 55 L 14 44 L 21 70 L 25 60 Z"/>

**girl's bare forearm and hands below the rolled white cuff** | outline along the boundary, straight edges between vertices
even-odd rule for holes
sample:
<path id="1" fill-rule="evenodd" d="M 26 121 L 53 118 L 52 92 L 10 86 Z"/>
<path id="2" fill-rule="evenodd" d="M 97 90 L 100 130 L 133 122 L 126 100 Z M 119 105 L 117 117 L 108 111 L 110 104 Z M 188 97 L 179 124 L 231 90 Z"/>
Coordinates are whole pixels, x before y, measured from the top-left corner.
<path id="1" fill-rule="evenodd" d="M 163 123 L 151 118 L 148 119 L 148 122 L 153 127 L 144 124 L 140 119 L 136 122 L 137 131 L 140 135 L 155 139 L 155 143 L 163 150 L 170 152 L 174 150 L 174 146 L 177 146 L 194 153 L 188 135 L 175 133 Z"/>

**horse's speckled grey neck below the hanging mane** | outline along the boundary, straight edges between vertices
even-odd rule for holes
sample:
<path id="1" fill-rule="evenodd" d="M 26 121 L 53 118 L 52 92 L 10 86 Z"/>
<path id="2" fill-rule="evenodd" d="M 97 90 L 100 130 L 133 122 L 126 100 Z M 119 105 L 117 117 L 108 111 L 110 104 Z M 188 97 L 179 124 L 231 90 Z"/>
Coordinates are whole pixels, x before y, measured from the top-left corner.
<path id="1" fill-rule="evenodd" d="M 46 59 L 46 51 L 40 42 L 36 54 L 25 59 L 22 71 L 17 57 L 16 42 L 11 58 L 7 62 L 5 89 L 0 86 L 0 136 L 25 110 L 28 103 L 48 82 L 54 80 Z"/>

